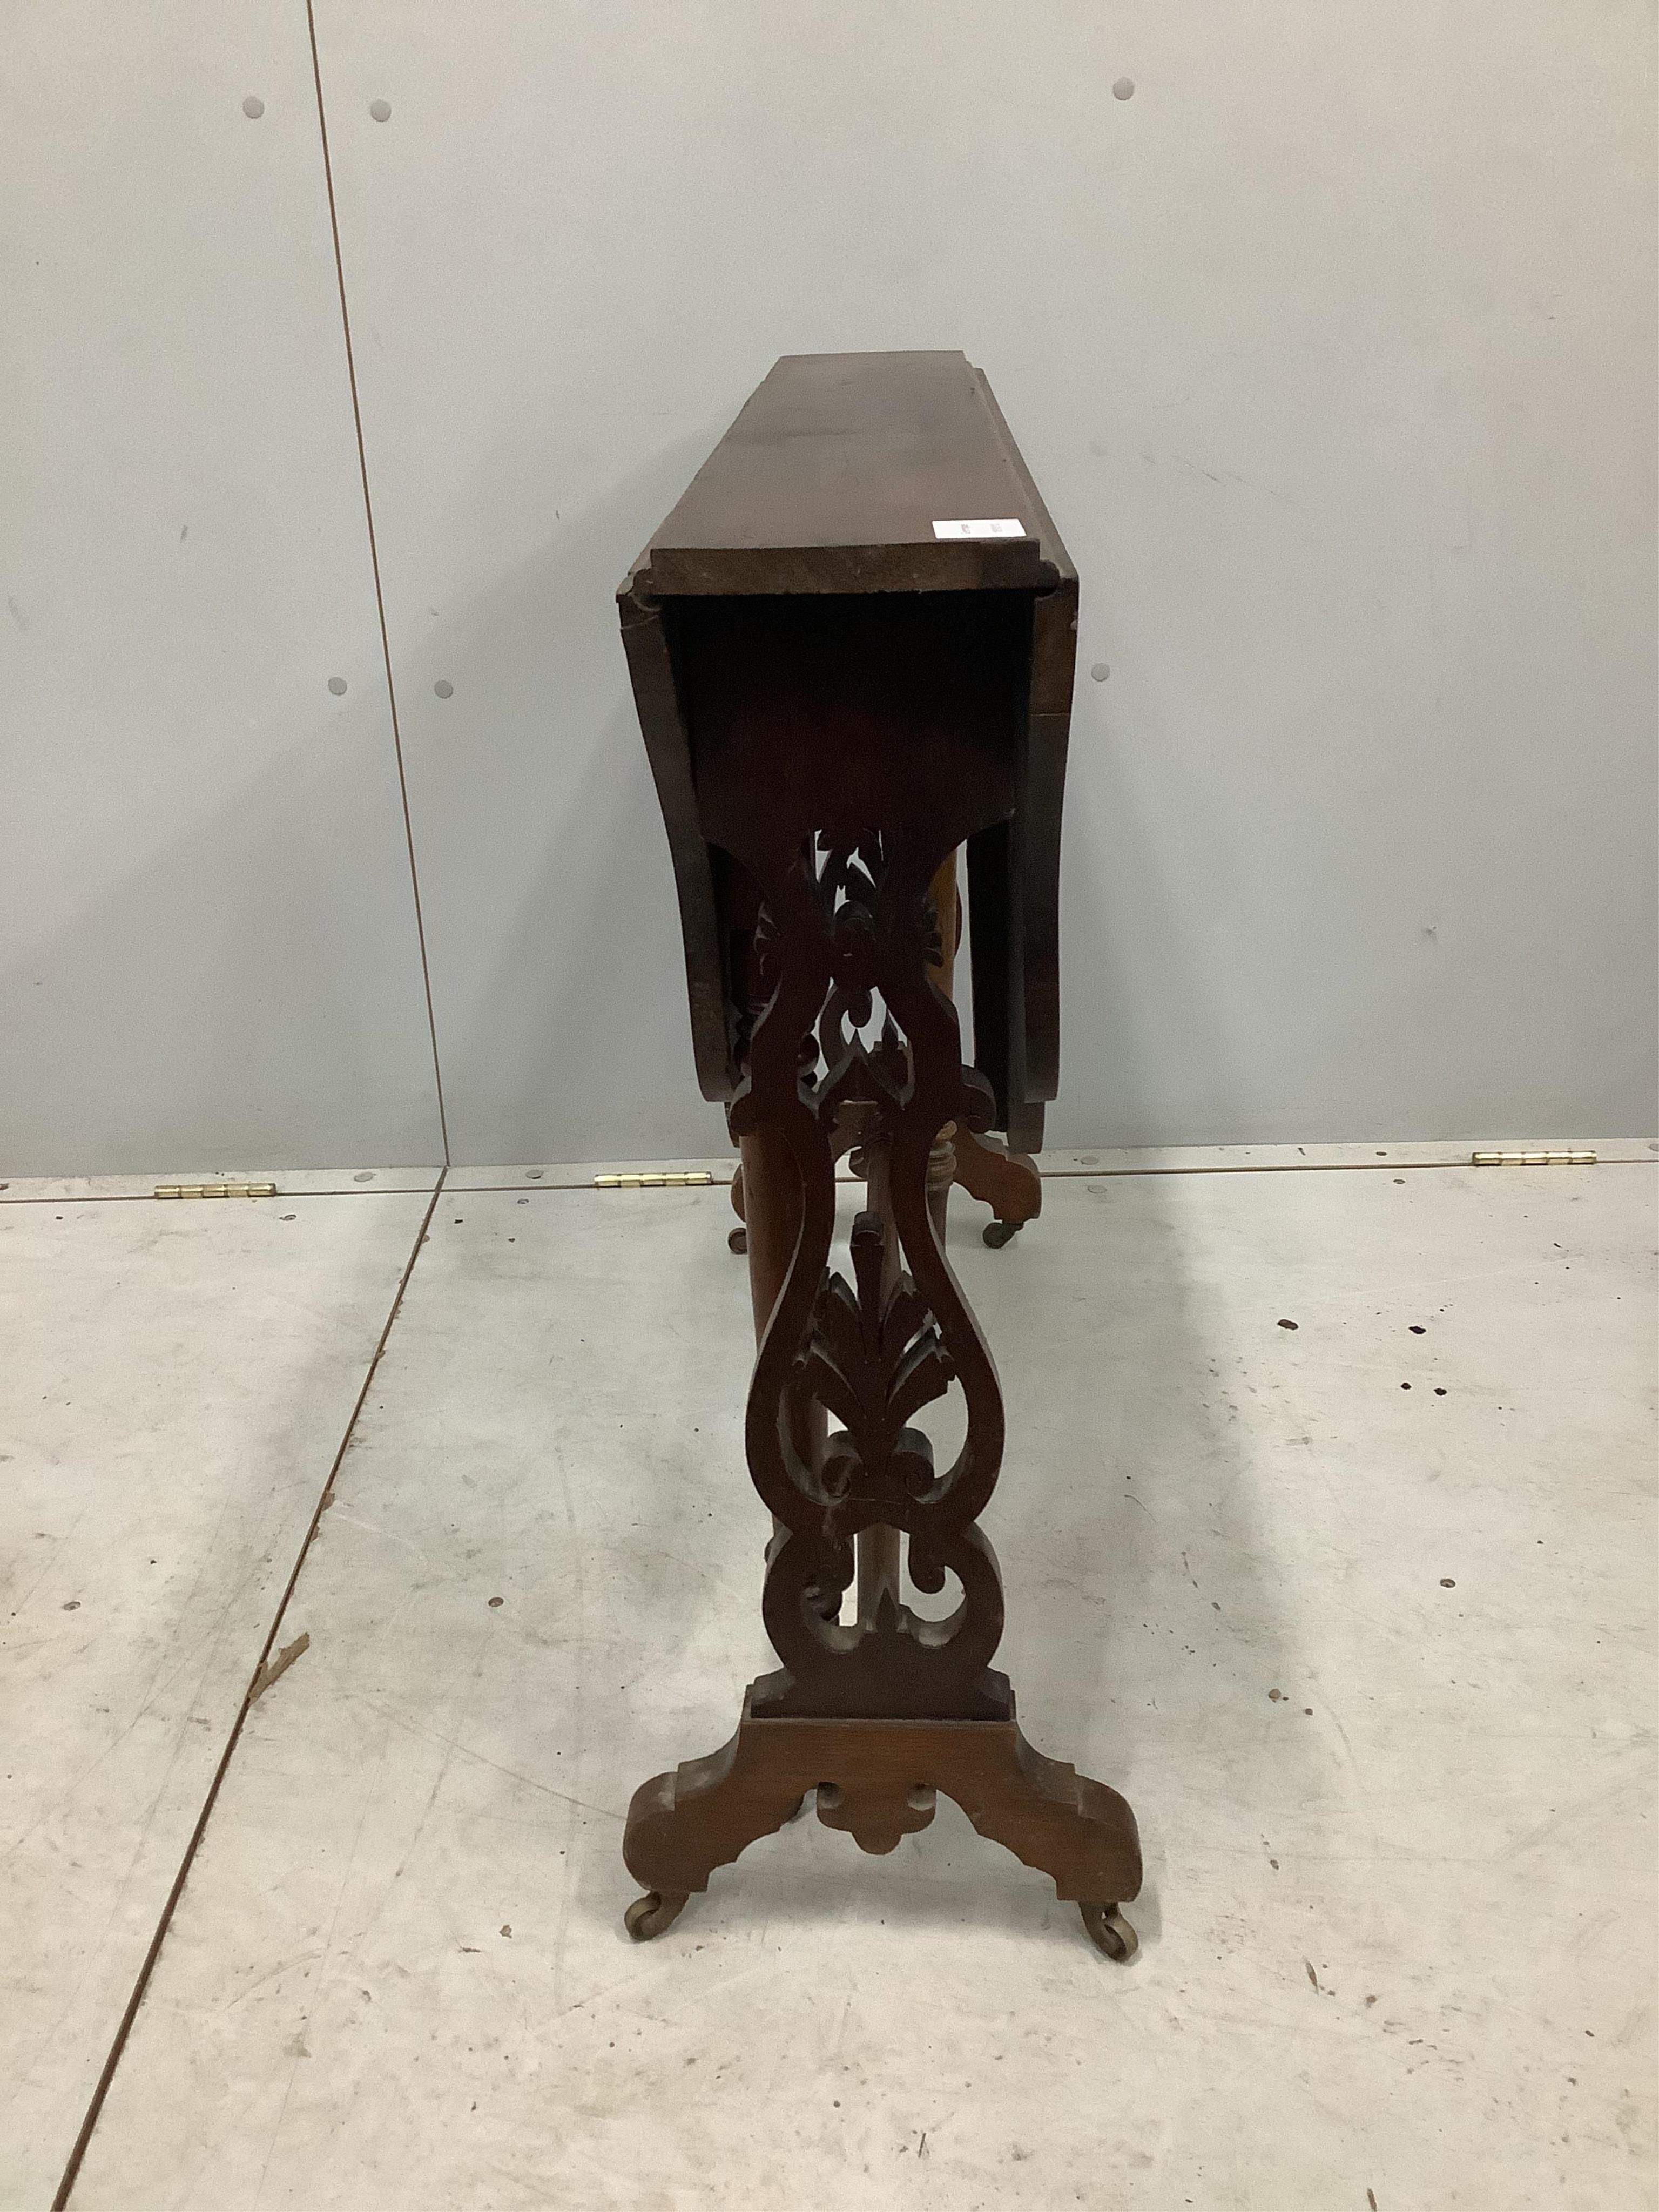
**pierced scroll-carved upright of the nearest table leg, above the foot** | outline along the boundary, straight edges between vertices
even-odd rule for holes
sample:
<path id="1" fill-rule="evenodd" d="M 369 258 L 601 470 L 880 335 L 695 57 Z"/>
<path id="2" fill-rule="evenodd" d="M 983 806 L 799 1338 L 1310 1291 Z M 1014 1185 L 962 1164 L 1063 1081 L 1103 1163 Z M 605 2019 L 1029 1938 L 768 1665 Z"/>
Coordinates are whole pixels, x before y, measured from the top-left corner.
<path id="1" fill-rule="evenodd" d="M 1002 1394 L 927 1206 L 929 1159 L 953 1121 L 987 1126 L 989 1091 L 962 1064 L 953 1004 L 929 980 L 938 854 L 883 832 L 814 836 L 761 880 L 754 967 L 763 1004 L 732 1130 L 783 1126 L 803 1186 L 803 1225 L 754 1363 L 750 1473 L 779 1522 L 763 1613 L 783 1672 L 754 1688 L 754 1714 L 1006 1719 L 1009 1683 L 989 1670 L 1002 1584 L 973 1526 L 1002 1460 Z M 750 863 L 752 865 L 752 863 Z M 885 1150 L 891 1223 L 863 1212 L 852 1283 L 827 1265 L 834 1135 L 856 1115 Z M 905 1265 L 909 1263 L 909 1265 Z M 914 1416 L 960 1387 L 967 1436 L 933 1467 Z M 792 1442 L 816 1400 L 841 1427 L 816 1460 Z M 854 1540 L 872 1526 L 909 1540 L 918 1590 L 962 1586 L 940 1621 L 898 1588 L 856 1624 L 825 1619 L 845 1590 Z"/>

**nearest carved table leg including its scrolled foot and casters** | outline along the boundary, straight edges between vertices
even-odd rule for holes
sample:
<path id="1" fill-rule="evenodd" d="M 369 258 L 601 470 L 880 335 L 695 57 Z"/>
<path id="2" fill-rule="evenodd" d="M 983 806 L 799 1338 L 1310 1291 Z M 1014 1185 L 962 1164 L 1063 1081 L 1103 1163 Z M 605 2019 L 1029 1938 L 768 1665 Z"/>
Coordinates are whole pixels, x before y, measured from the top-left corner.
<path id="1" fill-rule="evenodd" d="M 991 1666 L 1002 1577 L 978 1517 L 1002 1460 L 1002 1391 L 942 1239 L 953 1135 L 989 1097 L 938 991 L 953 872 L 918 852 L 922 836 L 757 849 L 779 918 L 774 982 L 732 1121 L 759 1343 L 745 1449 L 776 1515 L 761 1606 L 781 1668 L 750 1683 L 721 1752 L 635 1792 L 624 1858 L 646 1893 L 628 1929 L 661 1933 L 807 1794 L 825 1825 L 891 1851 L 927 1827 L 942 1790 L 1077 1900 L 1102 1951 L 1128 1958 L 1117 1907 L 1139 1887 L 1135 1816 L 1026 1743 Z M 872 1040 L 876 993 L 887 1018 Z M 836 1265 L 834 1161 L 854 1119 L 869 1203 Z M 947 1391 L 960 1391 L 967 1436 L 942 1467 L 914 1422 Z M 956 1577 L 956 1610 L 911 1613 L 900 1566 L 931 1595 Z M 843 1621 L 854 1579 L 858 1617 Z"/>

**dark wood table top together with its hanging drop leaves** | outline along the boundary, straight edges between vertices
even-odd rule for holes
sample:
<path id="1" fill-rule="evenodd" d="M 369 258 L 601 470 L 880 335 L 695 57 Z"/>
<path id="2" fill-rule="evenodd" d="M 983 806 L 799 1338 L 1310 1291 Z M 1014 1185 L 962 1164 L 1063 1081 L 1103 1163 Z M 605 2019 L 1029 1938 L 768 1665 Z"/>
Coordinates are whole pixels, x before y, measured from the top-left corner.
<path id="1" fill-rule="evenodd" d="M 984 374 L 962 354 L 785 354 L 617 599 L 703 1095 L 732 1099 L 743 1079 L 730 856 L 745 841 L 719 834 L 710 781 L 730 741 L 752 768 L 721 785 L 739 810 L 794 821 L 796 785 L 832 774 L 801 834 L 847 807 L 858 827 L 920 807 L 942 830 L 964 812 L 975 1062 L 995 1126 L 1035 1152 L 1060 1082 L 1077 571 Z"/>

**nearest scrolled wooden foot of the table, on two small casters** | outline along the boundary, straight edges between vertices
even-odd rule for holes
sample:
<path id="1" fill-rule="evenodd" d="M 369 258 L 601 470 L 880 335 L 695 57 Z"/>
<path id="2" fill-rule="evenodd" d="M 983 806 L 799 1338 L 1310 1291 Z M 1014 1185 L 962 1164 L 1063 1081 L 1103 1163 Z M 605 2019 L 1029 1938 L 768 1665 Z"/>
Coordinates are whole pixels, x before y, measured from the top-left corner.
<path id="1" fill-rule="evenodd" d="M 927 1827 L 940 1790 L 982 1836 L 1046 1874 L 1108 1958 L 1135 1955 L 1117 1909 L 1141 1887 L 1135 1814 L 1115 1790 L 1035 1752 L 1015 1721 L 757 1721 L 748 1703 L 723 1750 L 635 1790 L 622 1856 L 648 1896 L 628 1931 L 668 1927 L 714 1867 L 783 1827 L 810 1792 L 825 1827 L 883 1854 Z"/>

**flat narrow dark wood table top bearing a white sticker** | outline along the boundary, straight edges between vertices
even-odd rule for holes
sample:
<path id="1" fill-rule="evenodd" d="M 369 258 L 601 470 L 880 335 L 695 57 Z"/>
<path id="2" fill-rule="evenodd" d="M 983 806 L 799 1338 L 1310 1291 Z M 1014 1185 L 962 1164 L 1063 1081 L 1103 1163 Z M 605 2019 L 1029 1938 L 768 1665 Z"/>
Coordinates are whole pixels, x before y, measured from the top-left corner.
<path id="1" fill-rule="evenodd" d="M 1073 577 L 964 354 L 785 354 L 624 591 L 1051 591 Z"/>

